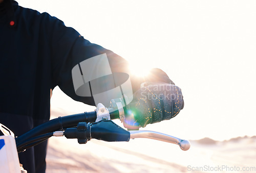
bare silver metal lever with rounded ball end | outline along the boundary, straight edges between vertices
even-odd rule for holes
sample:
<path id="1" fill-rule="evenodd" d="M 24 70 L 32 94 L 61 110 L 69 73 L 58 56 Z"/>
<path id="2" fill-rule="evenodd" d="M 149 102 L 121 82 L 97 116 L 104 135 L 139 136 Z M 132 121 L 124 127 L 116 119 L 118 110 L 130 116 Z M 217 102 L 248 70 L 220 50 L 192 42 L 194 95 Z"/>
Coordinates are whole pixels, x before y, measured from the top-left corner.
<path id="1" fill-rule="evenodd" d="M 187 151 L 190 148 L 190 142 L 188 140 L 183 140 L 176 138 L 174 136 L 166 135 L 159 132 L 154 131 L 147 131 L 147 130 L 135 130 L 129 131 L 130 132 L 130 139 L 134 138 L 149 138 L 160 140 L 164 142 L 174 143 L 180 146 L 181 150 Z"/>

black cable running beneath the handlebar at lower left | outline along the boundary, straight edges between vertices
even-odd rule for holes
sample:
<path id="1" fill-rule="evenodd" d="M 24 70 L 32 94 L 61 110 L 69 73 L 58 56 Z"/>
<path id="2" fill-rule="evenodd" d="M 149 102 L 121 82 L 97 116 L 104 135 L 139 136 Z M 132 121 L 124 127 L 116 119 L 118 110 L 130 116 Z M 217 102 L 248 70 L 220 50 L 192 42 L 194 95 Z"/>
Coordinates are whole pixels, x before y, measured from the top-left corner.
<path id="1" fill-rule="evenodd" d="M 53 136 L 53 132 L 46 133 L 46 134 L 43 134 L 43 135 L 40 135 L 40 136 L 36 136 L 36 137 L 30 138 L 30 139 L 27 139 L 24 142 L 16 141 L 17 142 L 16 143 L 17 151 L 18 151 L 18 153 L 22 152 L 22 151 L 25 150 L 25 149 L 23 149 L 24 146 L 29 145 L 29 144 L 31 144 L 33 142 L 37 142 L 37 141 L 43 140 L 43 139 L 48 139 L 48 138 L 50 138 L 52 136 Z"/>

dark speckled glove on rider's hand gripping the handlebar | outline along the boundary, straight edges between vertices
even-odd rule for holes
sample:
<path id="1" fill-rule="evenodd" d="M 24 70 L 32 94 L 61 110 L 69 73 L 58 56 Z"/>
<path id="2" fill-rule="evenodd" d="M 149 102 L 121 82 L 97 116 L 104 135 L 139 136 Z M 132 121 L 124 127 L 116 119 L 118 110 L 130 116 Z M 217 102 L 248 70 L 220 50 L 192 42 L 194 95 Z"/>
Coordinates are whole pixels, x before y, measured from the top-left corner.
<path id="1" fill-rule="evenodd" d="M 168 83 L 145 82 L 134 93 L 131 110 L 141 127 L 175 117 L 184 107 L 181 89 Z"/>

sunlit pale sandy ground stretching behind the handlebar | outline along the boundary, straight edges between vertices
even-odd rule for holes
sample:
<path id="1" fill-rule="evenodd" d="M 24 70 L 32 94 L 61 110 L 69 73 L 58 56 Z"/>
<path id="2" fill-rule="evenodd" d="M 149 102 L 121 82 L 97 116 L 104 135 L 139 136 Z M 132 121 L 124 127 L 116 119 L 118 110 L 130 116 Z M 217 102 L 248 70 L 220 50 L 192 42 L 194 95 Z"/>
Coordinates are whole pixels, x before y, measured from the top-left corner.
<path id="1" fill-rule="evenodd" d="M 52 111 L 53 117 L 70 113 Z M 52 137 L 47 172 L 256 172 L 256 137 L 190 142 L 191 148 L 184 152 L 178 145 L 152 139 L 92 139 L 78 144 L 76 139 Z"/>

